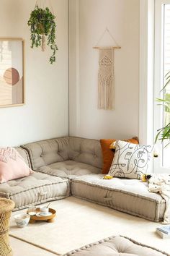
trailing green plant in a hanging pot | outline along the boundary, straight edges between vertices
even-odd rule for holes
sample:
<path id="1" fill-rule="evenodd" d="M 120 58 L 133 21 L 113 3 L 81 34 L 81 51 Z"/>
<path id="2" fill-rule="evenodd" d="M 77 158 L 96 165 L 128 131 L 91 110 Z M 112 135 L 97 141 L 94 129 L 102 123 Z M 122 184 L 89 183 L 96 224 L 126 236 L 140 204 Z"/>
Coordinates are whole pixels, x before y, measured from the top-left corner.
<path id="1" fill-rule="evenodd" d="M 53 62 L 56 61 L 55 54 L 58 50 L 55 43 L 55 15 L 50 12 L 48 7 L 42 9 L 36 5 L 35 9 L 30 14 L 28 25 L 30 26 L 31 31 L 31 48 L 40 46 L 42 51 L 45 51 L 46 36 L 47 44 L 53 51 L 53 54 L 50 56 L 50 63 L 53 64 Z"/>

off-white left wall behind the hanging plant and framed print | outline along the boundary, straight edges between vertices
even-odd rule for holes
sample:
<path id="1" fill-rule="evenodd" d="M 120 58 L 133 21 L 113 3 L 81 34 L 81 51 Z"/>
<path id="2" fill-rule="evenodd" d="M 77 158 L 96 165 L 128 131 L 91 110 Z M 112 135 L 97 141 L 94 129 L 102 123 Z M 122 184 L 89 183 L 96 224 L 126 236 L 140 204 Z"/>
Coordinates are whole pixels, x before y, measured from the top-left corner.
<path id="1" fill-rule="evenodd" d="M 0 108 L 0 146 L 68 135 L 68 1 L 51 1 L 57 16 L 58 57 L 30 48 L 27 26 L 35 0 L 1 0 L 0 37 L 25 39 L 25 106 Z"/>

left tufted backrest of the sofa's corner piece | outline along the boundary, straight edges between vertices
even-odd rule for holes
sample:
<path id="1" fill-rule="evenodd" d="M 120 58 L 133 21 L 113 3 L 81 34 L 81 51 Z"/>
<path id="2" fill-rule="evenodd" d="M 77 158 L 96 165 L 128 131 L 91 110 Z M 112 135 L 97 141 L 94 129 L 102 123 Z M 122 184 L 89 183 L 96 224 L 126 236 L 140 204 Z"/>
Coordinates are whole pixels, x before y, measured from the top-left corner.
<path id="1" fill-rule="evenodd" d="M 51 163 L 68 160 L 68 142 L 68 137 L 61 137 L 28 143 L 22 145 L 22 148 L 26 149 L 30 155 L 32 169 L 37 170 Z"/>

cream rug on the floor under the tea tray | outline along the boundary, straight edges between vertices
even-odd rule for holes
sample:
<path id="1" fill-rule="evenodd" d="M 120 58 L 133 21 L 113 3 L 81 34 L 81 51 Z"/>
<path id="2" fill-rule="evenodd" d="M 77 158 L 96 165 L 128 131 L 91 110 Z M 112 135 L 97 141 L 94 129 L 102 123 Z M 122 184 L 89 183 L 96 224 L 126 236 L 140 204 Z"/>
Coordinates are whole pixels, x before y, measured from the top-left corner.
<path id="1" fill-rule="evenodd" d="M 23 229 L 16 226 L 13 216 L 26 213 L 27 210 L 12 213 L 9 234 L 55 255 L 63 255 L 107 236 L 119 234 L 161 249 L 170 255 L 169 239 L 161 239 L 155 232 L 159 223 L 76 197 L 51 202 L 50 208 L 57 212 L 54 223 L 36 222 Z"/>

